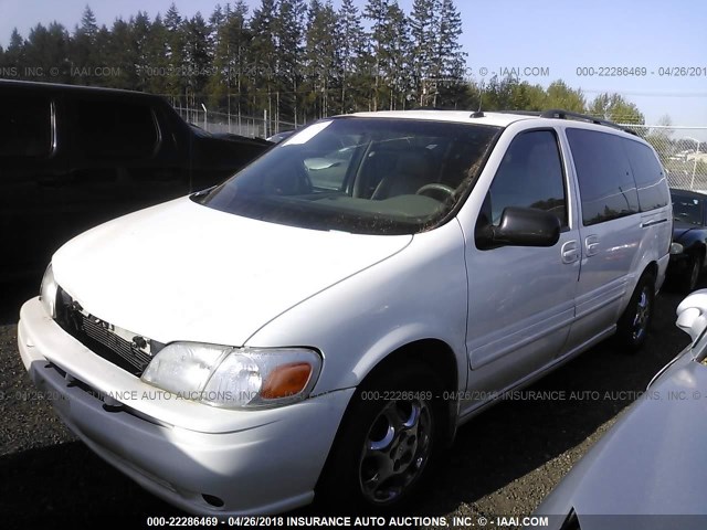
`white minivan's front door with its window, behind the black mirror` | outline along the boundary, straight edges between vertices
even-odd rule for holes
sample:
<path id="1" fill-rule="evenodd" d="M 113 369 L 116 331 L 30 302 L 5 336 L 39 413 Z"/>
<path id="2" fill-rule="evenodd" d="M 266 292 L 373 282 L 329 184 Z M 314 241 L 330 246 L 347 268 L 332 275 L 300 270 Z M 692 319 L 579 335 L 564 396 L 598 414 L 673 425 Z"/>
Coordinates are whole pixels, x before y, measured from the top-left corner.
<path id="1" fill-rule="evenodd" d="M 475 395 L 523 380 L 564 348 L 581 257 L 567 189 L 557 132 L 519 134 L 498 167 L 477 226 L 497 225 L 507 206 L 525 206 L 556 213 L 562 232 L 551 247 L 481 250 L 467 241 L 466 340 Z"/>

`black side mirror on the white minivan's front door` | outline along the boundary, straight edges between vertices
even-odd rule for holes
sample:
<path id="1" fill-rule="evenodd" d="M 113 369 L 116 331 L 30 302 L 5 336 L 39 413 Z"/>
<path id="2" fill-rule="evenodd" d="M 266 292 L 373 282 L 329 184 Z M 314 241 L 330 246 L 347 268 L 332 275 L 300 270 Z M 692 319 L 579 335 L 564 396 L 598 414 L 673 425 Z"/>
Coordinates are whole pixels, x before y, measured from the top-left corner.
<path id="1" fill-rule="evenodd" d="M 553 246 L 560 239 L 557 215 L 535 208 L 508 206 L 498 226 L 476 230 L 476 245 L 482 250 L 499 246 Z"/>

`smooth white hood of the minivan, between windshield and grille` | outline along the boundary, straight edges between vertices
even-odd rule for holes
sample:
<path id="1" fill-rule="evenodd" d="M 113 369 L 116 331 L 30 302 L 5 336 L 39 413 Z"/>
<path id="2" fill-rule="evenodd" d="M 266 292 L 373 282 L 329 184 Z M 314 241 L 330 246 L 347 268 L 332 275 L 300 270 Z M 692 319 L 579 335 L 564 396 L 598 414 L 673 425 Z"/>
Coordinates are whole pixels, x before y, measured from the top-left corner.
<path id="1" fill-rule="evenodd" d="M 411 241 L 274 224 L 182 198 L 92 229 L 52 263 L 56 283 L 114 326 L 160 342 L 242 346 Z"/>

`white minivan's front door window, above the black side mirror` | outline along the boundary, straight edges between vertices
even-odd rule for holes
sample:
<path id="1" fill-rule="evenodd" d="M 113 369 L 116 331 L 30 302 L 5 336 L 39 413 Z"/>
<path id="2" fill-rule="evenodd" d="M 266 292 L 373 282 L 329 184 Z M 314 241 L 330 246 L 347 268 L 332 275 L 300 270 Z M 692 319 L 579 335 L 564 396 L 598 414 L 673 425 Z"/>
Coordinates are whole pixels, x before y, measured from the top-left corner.
<path id="1" fill-rule="evenodd" d="M 507 206 L 536 208 L 553 212 L 567 225 L 562 162 L 557 138 L 549 130 L 520 134 L 506 151 L 490 184 L 484 206 L 490 224 L 497 225 Z"/>

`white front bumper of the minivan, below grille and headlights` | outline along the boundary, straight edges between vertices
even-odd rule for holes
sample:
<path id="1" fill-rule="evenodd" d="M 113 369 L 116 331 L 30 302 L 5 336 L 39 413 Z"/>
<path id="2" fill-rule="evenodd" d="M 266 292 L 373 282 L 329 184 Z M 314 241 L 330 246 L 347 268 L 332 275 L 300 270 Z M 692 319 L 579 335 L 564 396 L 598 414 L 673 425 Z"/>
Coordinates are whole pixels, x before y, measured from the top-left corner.
<path id="1" fill-rule="evenodd" d="M 192 513 L 274 513 L 314 498 L 354 389 L 279 409 L 228 411 L 156 389 L 22 306 L 18 343 L 32 381 L 102 458 Z"/>

